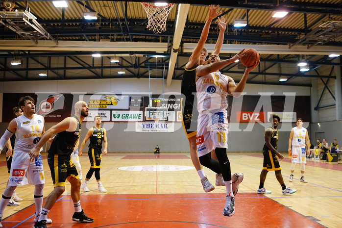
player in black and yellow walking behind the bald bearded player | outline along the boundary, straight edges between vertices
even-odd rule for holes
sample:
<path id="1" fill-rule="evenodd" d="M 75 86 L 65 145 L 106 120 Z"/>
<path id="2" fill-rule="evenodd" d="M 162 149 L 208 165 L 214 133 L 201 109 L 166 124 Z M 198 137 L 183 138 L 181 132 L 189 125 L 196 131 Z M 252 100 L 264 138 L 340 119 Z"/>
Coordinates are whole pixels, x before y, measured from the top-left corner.
<path id="1" fill-rule="evenodd" d="M 87 187 L 87 183 L 90 180 L 90 178 L 93 176 L 93 173 L 95 172 L 95 178 L 98 181 L 98 191 L 99 192 L 107 192 L 107 190 L 102 186 L 101 179 L 100 179 L 100 168 L 101 168 L 101 159 L 102 159 L 102 153 L 103 155 L 107 154 L 107 133 L 106 129 L 101 127 L 101 117 L 96 116 L 94 118 L 95 126 L 90 128 L 87 132 L 86 137 L 84 138 L 81 147 L 79 148 L 78 155 L 82 155 L 83 147 L 85 146 L 87 140 L 89 139 L 89 150 L 88 150 L 88 156 L 90 160 L 90 169 L 87 173 L 87 176 L 81 185 L 81 189 L 83 189 L 86 192 L 89 192 L 90 190 Z M 104 145 L 103 151 L 102 150 L 102 142 Z"/>

